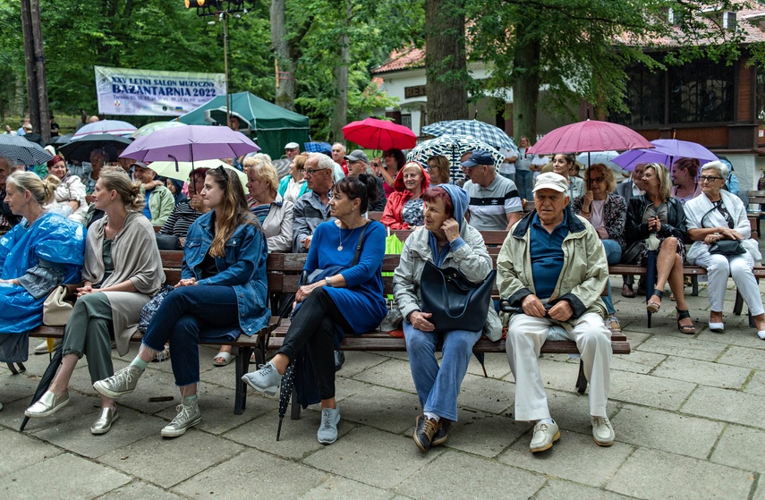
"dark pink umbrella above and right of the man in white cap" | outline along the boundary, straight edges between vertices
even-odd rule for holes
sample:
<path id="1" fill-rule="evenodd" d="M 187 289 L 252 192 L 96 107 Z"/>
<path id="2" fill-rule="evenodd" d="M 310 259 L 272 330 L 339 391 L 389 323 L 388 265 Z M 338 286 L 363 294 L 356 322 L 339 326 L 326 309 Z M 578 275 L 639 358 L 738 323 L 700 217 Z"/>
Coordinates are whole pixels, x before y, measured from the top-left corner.
<path id="1" fill-rule="evenodd" d="M 552 155 L 653 147 L 641 134 L 624 125 L 586 120 L 549 132 L 528 152 L 533 155 Z"/>

